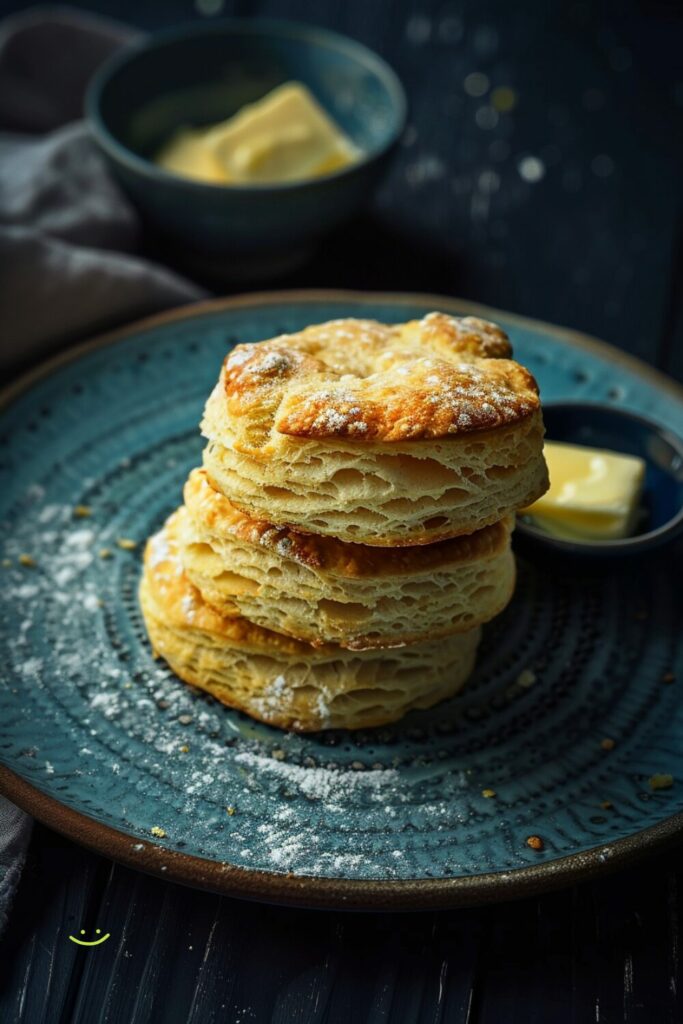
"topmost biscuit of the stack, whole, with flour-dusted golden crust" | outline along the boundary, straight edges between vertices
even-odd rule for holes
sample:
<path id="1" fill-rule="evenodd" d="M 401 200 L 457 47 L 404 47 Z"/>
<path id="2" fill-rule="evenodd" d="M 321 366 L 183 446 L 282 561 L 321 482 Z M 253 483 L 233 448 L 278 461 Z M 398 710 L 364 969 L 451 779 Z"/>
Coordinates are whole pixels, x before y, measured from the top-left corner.
<path id="1" fill-rule="evenodd" d="M 548 486 L 538 386 L 500 328 L 430 313 L 238 345 L 204 465 L 256 519 L 368 546 L 472 534 Z"/>

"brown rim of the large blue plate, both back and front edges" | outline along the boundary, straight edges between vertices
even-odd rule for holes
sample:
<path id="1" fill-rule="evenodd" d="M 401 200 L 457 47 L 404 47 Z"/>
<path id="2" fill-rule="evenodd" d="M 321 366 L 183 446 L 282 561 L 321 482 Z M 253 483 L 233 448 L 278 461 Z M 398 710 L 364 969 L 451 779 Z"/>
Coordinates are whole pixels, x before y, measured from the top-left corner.
<path id="1" fill-rule="evenodd" d="M 433 308 L 454 313 L 461 312 L 490 319 L 502 317 L 510 324 L 530 327 L 580 348 L 597 352 L 608 361 L 645 377 L 654 386 L 663 388 L 672 397 L 683 401 L 683 385 L 637 356 L 624 353 L 607 342 L 572 328 L 559 327 L 520 313 L 510 313 L 453 296 L 419 292 L 297 289 L 249 292 L 188 303 L 98 334 L 46 358 L 2 388 L 0 411 L 60 367 L 141 331 L 223 309 L 345 300 L 397 306 L 432 305 Z M 0 794 L 55 831 L 135 870 L 145 871 L 167 882 L 208 889 L 234 898 L 318 909 L 385 911 L 445 909 L 522 898 L 626 867 L 648 853 L 673 844 L 683 833 L 683 811 L 678 811 L 630 836 L 601 843 L 579 853 L 566 854 L 554 860 L 510 870 L 444 879 L 386 881 L 340 879 L 254 870 L 169 850 L 159 843 L 121 831 L 60 803 L 1 763 Z M 140 844 L 142 849 L 135 849 Z"/>

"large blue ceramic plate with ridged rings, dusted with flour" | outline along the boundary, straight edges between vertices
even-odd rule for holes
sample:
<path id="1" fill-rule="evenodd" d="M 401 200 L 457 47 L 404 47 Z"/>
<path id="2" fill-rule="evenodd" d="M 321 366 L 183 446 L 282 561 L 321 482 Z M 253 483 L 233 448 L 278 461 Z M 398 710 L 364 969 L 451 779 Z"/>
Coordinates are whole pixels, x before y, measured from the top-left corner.
<path id="1" fill-rule="evenodd" d="M 683 432 L 680 390 L 641 364 L 429 296 L 254 295 L 53 361 L 8 395 L 0 424 L 4 793 L 133 866 L 311 906 L 504 899 L 683 829 L 680 550 L 637 573 L 522 555 L 463 694 L 379 730 L 286 734 L 152 656 L 140 547 L 200 461 L 198 422 L 230 345 L 433 308 L 499 321 L 547 399 L 606 399 Z M 76 516 L 80 505 L 91 514 Z M 653 776 L 673 784 L 654 788 Z"/>

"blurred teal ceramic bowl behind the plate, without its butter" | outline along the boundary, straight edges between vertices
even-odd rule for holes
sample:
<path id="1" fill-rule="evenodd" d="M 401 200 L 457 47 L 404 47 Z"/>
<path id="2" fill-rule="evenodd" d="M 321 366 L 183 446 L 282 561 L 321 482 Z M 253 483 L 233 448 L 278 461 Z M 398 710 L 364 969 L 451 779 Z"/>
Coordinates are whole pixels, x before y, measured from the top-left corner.
<path id="1" fill-rule="evenodd" d="M 215 185 L 157 167 L 180 126 L 229 118 L 283 82 L 303 82 L 362 151 L 357 163 L 278 185 Z M 288 22 L 234 18 L 173 29 L 116 54 L 86 96 L 94 138 L 145 225 L 209 278 L 291 269 L 362 205 L 405 121 L 391 69 L 359 43 Z"/>

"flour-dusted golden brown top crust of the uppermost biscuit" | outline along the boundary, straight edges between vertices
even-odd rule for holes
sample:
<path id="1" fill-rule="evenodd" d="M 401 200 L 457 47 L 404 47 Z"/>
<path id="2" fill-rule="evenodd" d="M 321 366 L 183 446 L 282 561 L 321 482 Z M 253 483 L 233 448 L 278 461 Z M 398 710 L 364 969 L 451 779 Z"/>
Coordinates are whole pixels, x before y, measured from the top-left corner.
<path id="1" fill-rule="evenodd" d="M 428 313 L 384 325 L 339 319 L 238 345 L 222 386 L 231 417 L 301 438 L 404 441 L 515 423 L 540 408 L 504 331 Z"/>

